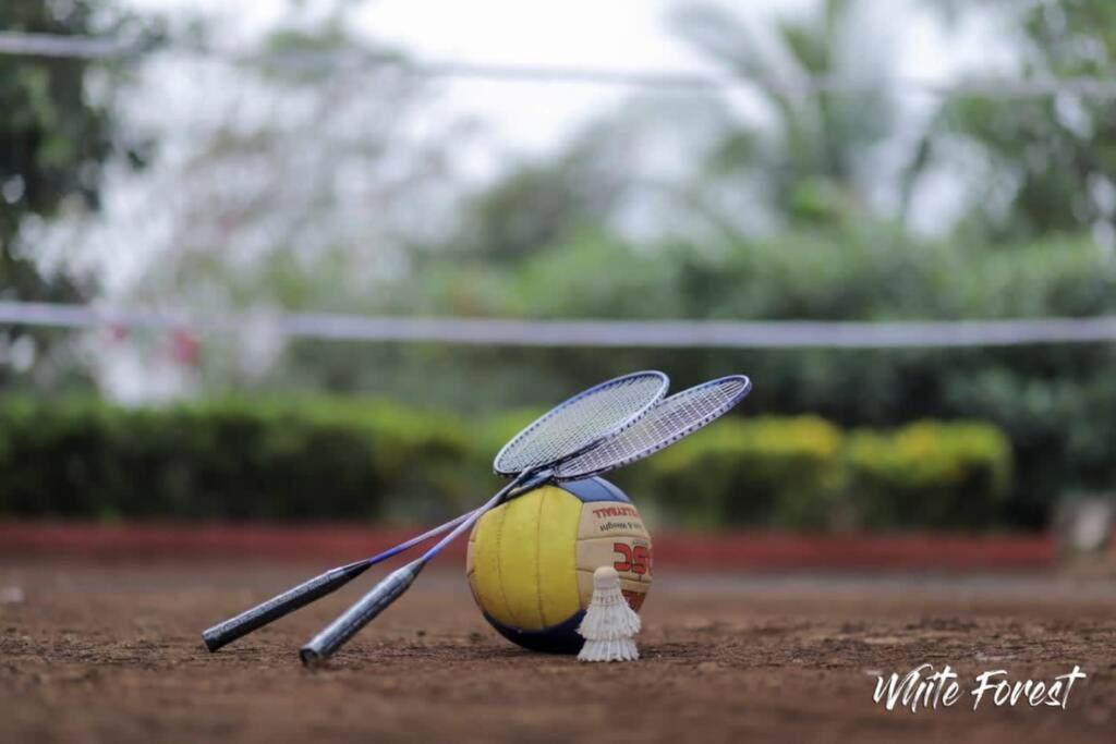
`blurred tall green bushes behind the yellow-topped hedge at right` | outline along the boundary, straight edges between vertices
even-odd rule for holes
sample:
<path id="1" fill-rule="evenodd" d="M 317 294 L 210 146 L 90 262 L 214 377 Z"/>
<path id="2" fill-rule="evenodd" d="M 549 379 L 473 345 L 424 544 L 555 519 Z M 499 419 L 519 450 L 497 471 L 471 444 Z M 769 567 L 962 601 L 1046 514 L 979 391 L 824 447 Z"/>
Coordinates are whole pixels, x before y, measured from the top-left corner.
<path id="1" fill-rule="evenodd" d="M 1089 238 L 1012 247 L 921 242 L 891 225 L 841 224 L 762 240 L 632 244 L 583 230 L 502 267 L 483 284 L 406 287 L 423 312 L 540 318 L 995 319 L 1116 313 L 1116 261 Z M 451 287 L 453 288 L 451 290 Z M 473 297 L 474 301 L 463 301 Z M 956 349 L 473 349 L 401 348 L 349 370 L 376 370 L 377 394 L 487 410 L 557 398 L 616 373 L 661 368 L 675 387 L 742 370 L 749 413 L 817 413 L 844 427 L 974 418 L 1002 428 L 1019 475 L 1002 513 L 1043 524 L 1067 489 L 1116 480 L 1116 350 L 1104 345 Z M 326 350 L 317 348 L 316 358 Z M 354 358 L 356 357 L 356 358 Z M 466 388 L 440 389 L 452 369 Z M 448 376 L 449 377 L 449 376 Z M 388 379 L 394 381 L 388 381 Z M 373 386 L 375 385 L 375 386 Z M 345 388 L 338 388 L 345 389 Z M 352 389 L 352 388 L 349 388 Z"/>

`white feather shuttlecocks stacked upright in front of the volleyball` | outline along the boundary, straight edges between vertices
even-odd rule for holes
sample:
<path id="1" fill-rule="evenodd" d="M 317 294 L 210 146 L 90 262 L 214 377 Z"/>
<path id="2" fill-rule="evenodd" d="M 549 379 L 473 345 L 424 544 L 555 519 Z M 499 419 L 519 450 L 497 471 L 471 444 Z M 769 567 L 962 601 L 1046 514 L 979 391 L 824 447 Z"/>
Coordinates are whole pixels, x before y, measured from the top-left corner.
<path id="1" fill-rule="evenodd" d="M 593 572 L 593 599 L 577 628 L 585 645 L 577 658 L 581 661 L 631 661 L 639 658 L 635 635 L 639 616 L 620 593 L 616 569 L 602 566 Z"/>

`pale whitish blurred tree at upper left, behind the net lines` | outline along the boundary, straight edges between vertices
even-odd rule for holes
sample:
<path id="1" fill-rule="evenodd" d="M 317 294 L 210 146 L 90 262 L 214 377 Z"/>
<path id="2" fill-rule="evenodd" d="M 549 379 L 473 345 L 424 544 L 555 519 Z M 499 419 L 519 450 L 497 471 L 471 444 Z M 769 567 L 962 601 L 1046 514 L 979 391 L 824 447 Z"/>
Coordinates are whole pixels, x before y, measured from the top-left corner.
<path id="1" fill-rule="evenodd" d="M 94 375 L 110 394 L 250 384 L 285 348 L 271 309 L 382 310 L 391 282 L 411 276 L 408 247 L 444 243 L 458 197 L 451 155 L 469 147 L 472 126 L 439 110 L 405 59 L 353 36 L 352 10 L 292 4 L 235 64 L 172 47 L 136 86 L 143 107 L 129 118 L 160 131 L 157 156 L 114 181 L 100 214 L 56 222 L 46 242 L 94 257 L 110 300 L 251 310 L 258 321 L 201 336 L 189 368 L 170 338 L 157 349 L 128 337 L 100 346 Z M 125 243 L 126 264 L 113 251 Z M 289 361 L 290 378 L 319 386 L 375 374 L 328 355 Z"/>

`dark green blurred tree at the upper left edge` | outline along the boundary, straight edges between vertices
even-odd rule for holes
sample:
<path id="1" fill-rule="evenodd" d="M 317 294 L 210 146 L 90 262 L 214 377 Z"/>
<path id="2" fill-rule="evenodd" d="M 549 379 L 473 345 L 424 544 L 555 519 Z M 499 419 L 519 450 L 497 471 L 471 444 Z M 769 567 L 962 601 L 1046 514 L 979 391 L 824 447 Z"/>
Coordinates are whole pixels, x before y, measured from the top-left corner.
<path id="1" fill-rule="evenodd" d="M 19 0 L 0 4 L 8 31 L 124 36 L 136 19 L 102 0 Z M 83 289 L 44 272 L 33 245 L 19 241 L 29 215 L 49 218 L 66 204 L 96 207 L 104 163 L 114 146 L 112 97 L 89 94 L 85 59 L 0 56 L 0 298 L 73 301 Z M 104 88 L 105 86 L 103 86 Z M 132 151 L 138 162 L 140 151 Z M 50 336 L 20 326 L 0 330 L 0 385 L 12 369 L 42 358 Z"/>

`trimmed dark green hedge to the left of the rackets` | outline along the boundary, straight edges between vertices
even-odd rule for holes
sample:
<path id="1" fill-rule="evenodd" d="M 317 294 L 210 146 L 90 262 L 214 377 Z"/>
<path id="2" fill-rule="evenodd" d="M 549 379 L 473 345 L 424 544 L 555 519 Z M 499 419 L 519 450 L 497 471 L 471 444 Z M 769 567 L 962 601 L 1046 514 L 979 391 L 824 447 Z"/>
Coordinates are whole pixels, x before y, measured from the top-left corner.
<path id="1" fill-rule="evenodd" d="M 15 514 L 423 518 L 475 493 L 460 424 L 381 403 L 13 400 L 0 432 L 0 510 Z"/>

